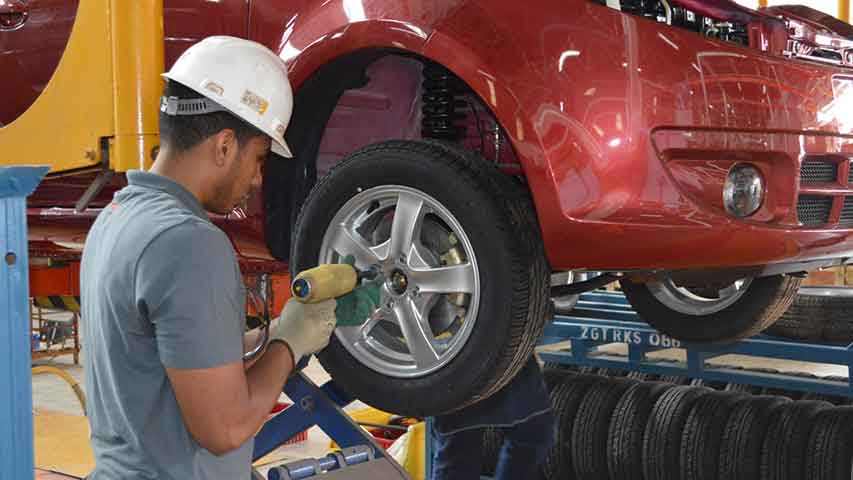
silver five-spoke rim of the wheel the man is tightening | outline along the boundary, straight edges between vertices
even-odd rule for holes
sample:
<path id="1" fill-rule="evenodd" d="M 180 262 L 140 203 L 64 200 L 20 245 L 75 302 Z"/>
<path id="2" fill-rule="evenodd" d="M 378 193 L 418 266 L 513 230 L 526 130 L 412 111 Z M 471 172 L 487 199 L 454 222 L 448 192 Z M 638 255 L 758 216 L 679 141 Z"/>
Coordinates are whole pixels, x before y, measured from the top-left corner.
<path id="1" fill-rule="evenodd" d="M 471 241 L 433 197 L 388 185 L 362 191 L 337 212 L 320 246 L 320 263 L 351 256 L 384 279 L 380 305 L 337 339 L 363 365 L 411 378 L 450 362 L 477 319 L 480 275 Z"/>

